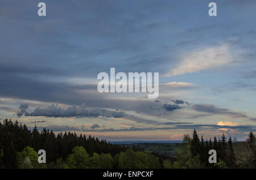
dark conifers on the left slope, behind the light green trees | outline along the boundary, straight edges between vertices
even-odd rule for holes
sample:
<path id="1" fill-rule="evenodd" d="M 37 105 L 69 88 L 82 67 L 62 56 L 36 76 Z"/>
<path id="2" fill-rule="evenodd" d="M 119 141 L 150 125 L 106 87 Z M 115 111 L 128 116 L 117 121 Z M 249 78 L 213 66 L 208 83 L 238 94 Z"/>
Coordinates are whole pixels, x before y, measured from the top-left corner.
<path id="1" fill-rule="evenodd" d="M 99 140 L 92 136 L 77 136 L 73 132 L 60 133 L 55 136 L 53 131 L 46 128 L 38 131 L 35 126 L 31 131 L 26 125 L 19 124 L 18 121 L 13 122 L 11 119 L 0 122 L 0 149 L 4 153 L 4 156 L 0 158 L 0 168 L 18 168 L 17 155 L 25 147 L 32 147 L 36 152 L 44 149 L 47 153 L 47 164 L 40 164 L 38 168 L 46 165 L 48 168 L 54 168 L 55 165 L 59 165 L 56 164 L 58 159 L 66 160 L 73 153 L 72 149 L 77 146 L 84 147 L 90 156 L 93 156 L 93 153 L 110 153 L 114 156 L 127 149 L 125 146 L 110 144 L 106 140 Z M 28 160 L 26 162 L 30 164 Z"/>

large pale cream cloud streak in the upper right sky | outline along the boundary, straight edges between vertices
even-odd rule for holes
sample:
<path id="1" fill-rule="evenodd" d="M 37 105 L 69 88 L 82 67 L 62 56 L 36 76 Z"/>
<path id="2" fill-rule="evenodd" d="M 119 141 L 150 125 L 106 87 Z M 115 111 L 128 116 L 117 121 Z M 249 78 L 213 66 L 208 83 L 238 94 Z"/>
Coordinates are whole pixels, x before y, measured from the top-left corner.
<path id="1" fill-rule="evenodd" d="M 216 46 L 204 50 L 195 50 L 185 54 L 180 59 L 180 64 L 164 74 L 164 77 L 183 75 L 199 72 L 201 70 L 224 66 L 232 61 L 228 45 Z"/>

